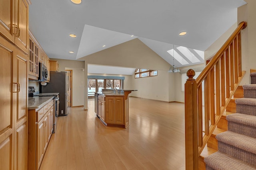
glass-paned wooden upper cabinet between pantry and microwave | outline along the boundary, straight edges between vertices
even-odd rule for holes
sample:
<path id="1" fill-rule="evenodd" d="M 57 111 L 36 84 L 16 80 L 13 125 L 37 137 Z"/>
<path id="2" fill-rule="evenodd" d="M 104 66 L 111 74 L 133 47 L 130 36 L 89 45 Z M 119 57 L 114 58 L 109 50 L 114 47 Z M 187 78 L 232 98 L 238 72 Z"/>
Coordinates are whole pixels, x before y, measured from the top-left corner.
<path id="1" fill-rule="evenodd" d="M 39 76 L 39 45 L 33 35 L 29 32 L 29 66 L 28 74 L 30 79 L 38 80 Z"/>

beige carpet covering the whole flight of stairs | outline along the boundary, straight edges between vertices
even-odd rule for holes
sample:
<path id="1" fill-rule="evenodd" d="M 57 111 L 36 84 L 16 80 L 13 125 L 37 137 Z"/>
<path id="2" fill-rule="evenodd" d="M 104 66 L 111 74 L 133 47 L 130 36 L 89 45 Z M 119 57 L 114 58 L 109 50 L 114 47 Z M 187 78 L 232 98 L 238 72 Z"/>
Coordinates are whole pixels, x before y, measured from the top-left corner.
<path id="1" fill-rule="evenodd" d="M 206 170 L 256 170 L 256 84 L 244 85 L 228 131 L 216 135 L 218 152 L 204 158 Z"/>

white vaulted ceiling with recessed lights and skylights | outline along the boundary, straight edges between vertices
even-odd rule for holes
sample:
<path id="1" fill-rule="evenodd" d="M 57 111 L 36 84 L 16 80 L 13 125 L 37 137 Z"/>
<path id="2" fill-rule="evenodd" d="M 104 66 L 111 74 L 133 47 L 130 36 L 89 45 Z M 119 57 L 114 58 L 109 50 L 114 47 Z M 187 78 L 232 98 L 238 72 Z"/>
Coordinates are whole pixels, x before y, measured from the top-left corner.
<path id="1" fill-rule="evenodd" d="M 186 53 L 202 63 L 197 51 L 205 51 L 236 23 L 237 8 L 246 4 L 243 0 L 31 2 L 29 28 L 50 58 L 76 60 L 138 38 L 171 65 L 173 58 L 167 51 L 173 44 L 177 55 L 184 55 L 179 46 L 187 47 Z M 187 34 L 178 35 L 182 31 Z M 185 60 L 185 65 L 198 64 Z M 182 66 L 178 59 L 175 62 Z"/>

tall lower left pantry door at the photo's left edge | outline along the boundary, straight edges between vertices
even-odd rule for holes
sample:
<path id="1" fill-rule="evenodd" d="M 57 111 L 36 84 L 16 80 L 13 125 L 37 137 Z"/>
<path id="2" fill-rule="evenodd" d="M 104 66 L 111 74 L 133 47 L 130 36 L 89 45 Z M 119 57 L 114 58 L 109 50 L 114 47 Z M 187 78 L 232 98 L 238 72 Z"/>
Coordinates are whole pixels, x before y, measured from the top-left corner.
<path id="1" fill-rule="evenodd" d="M 15 47 L 0 36 L 0 165 L 1 169 L 8 170 L 12 169 L 14 164 L 15 113 L 12 105 L 16 103 L 13 104 L 12 95 L 18 92 L 17 82 L 12 82 L 14 53 Z"/>

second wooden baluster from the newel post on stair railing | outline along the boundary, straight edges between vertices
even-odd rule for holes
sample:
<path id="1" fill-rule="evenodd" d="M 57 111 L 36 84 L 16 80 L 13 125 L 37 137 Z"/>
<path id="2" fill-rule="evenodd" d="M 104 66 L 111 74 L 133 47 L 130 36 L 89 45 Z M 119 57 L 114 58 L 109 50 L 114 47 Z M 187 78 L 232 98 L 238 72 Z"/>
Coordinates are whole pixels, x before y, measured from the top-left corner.
<path id="1" fill-rule="evenodd" d="M 204 133 L 209 135 L 209 113 L 210 113 L 210 79 L 208 76 L 204 79 Z"/>

